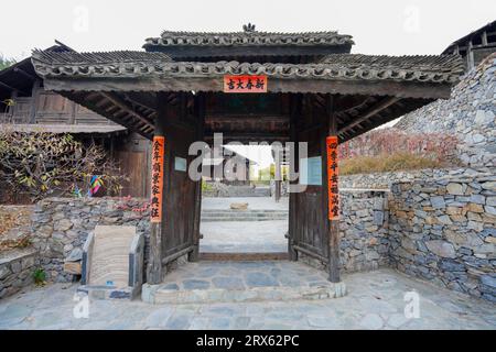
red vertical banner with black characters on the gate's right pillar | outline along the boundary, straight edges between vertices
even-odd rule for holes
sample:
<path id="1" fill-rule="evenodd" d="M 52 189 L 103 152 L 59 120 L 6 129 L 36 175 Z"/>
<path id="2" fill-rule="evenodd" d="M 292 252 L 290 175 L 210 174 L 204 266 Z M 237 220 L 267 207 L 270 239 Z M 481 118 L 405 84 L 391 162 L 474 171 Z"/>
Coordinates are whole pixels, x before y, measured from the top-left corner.
<path id="1" fill-rule="evenodd" d="M 339 219 L 339 191 L 338 191 L 338 166 L 337 166 L 337 144 L 336 135 L 327 136 L 327 199 L 328 199 L 328 220 Z"/>

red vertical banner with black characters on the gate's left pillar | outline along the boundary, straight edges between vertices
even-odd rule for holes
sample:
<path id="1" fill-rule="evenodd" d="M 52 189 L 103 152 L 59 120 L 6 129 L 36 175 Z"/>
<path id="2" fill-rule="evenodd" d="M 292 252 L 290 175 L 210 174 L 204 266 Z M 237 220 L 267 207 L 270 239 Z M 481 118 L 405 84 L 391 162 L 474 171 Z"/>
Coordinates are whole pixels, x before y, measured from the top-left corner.
<path id="1" fill-rule="evenodd" d="M 162 221 L 162 193 L 165 138 L 154 136 L 152 144 L 151 207 L 150 221 Z"/>

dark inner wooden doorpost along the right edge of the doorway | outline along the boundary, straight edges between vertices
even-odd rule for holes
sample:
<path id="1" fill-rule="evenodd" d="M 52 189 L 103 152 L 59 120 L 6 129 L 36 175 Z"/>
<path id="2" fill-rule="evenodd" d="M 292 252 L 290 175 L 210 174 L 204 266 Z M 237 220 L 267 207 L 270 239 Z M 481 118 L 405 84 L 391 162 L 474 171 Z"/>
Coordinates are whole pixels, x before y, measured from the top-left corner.
<path id="1" fill-rule="evenodd" d="M 301 113 L 301 95 L 292 94 L 290 95 L 290 141 L 294 143 L 294 165 L 290 165 L 290 180 L 289 184 L 298 184 L 298 180 L 292 180 L 295 178 L 295 173 L 300 170 L 300 155 L 298 148 L 298 119 Z M 291 161 L 290 161 L 291 163 Z M 288 191 L 291 187 L 288 187 Z M 289 193 L 289 228 L 288 228 L 288 253 L 290 261 L 298 261 L 298 252 L 294 250 L 294 245 L 296 244 L 296 220 L 298 220 L 298 211 L 296 211 L 296 197 L 295 193 Z"/>

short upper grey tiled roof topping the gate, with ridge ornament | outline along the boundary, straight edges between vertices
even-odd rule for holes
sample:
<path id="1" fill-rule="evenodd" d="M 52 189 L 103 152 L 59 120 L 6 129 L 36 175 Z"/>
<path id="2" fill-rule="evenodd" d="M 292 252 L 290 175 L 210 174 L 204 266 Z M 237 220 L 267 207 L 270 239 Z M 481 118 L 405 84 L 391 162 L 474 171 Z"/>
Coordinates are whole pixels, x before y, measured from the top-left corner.
<path id="1" fill-rule="evenodd" d="M 353 45 L 351 35 L 337 32 L 174 32 L 164 31 L 160 37 L 149 37 L 143 47 L 152 46 L 319 46 Z"/>

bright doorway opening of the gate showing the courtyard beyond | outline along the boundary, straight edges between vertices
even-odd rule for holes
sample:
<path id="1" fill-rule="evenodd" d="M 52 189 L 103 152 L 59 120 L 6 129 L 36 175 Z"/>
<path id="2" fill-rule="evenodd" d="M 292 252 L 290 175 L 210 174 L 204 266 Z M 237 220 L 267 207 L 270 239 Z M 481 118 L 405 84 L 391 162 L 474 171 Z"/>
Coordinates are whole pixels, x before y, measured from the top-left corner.
<path id="1" fill-rule="evenodd" d="M 277 165 L 282 178 L 287 165 L 270 145 L 222 150 L 203 161 L 200 257 L 287 260 L 289 197 L 276 182 Z"/>

